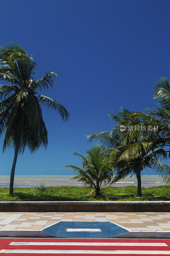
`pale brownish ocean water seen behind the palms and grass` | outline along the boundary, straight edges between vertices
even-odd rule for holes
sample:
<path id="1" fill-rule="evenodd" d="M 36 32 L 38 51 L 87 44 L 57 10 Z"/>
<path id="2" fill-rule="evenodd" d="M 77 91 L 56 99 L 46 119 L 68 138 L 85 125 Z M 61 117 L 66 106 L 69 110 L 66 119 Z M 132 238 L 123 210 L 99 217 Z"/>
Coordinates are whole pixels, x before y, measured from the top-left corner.
<path id="1" fill-rule="evenodd" d="M 83 186 L 82 183 L 70 180 L 74 175 L 15 175 L 14 187 L 37 187 L 42 182 L 46 187 L 50 186 Z M 158 175 L 141 175 L 142 187 L 153 187 L 166 185 L 162 182 Z M 10 176 L 0 175 L 0 187 L 10 186 Z M 109 186 L 109 184 L 107 185 Z M 127 176 L 124 180 L 112 184 L 113 187 L 137 186 L 137 178 L 135 176 Z"/>

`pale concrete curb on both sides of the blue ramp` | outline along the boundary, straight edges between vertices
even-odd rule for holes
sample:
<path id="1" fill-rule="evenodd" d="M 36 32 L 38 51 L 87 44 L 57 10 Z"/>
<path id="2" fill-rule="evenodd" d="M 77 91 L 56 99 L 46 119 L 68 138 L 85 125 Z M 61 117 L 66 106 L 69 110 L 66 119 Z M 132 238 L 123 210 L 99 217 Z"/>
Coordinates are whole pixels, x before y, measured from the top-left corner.
<path id="1" fill-rule="evenodd" d="M 24 229 L 3 229 L 0 230 L 0 237 L 55 237 L 43 230 Z M 114 238 L 170 238 L 170 231 L 129 231 L 127 233 L 114 236 Z"/>

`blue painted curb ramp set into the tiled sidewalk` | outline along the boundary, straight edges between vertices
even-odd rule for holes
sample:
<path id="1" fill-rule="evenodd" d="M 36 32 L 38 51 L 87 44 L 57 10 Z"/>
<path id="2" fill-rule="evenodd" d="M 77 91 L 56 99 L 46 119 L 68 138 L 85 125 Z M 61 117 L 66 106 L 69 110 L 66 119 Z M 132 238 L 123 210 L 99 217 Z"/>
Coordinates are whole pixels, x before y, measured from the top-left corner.
<path id="1" fill-rule="evenodd" d="M 78 232 L 67 232 L 66 228 L 99 228 L 101 232 L 89 232 L 89 231 L 78 231 Z M 104 238 L 117 236 L 129 230 L 119 227 L 118 225 L 107 222 L 97 221 L 60 221 L 48 228 L 44 228 L 48 234 L 56 237 L 71 237 L 71 238 Z"/>

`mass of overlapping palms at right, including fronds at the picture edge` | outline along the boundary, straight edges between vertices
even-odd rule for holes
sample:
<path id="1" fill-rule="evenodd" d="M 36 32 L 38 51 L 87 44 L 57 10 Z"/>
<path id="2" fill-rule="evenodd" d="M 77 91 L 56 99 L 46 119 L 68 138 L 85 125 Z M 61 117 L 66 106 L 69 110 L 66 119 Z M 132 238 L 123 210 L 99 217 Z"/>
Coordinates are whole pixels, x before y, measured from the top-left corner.
<path id="1" fill-rule="evenodd" d="M 170 182 L 170 167 L 159 160 L 170 157 L 170 86 L 166 77 L 155 84 L 154 99 L 159 108 L 146 109 L 145 113 L 122 108 L 117 115 L 109 115 L 116 123 L 111 132 L 87 136 L 102 146 L 113 149 L 114 178 L 110 184 L 124 179 L 129 174 L 137 177 L 137 196 L 142 196 L 141 171 L 152 169 L 167 184 Z M 167 153 L 169 153 L 167 155 Z"/>

